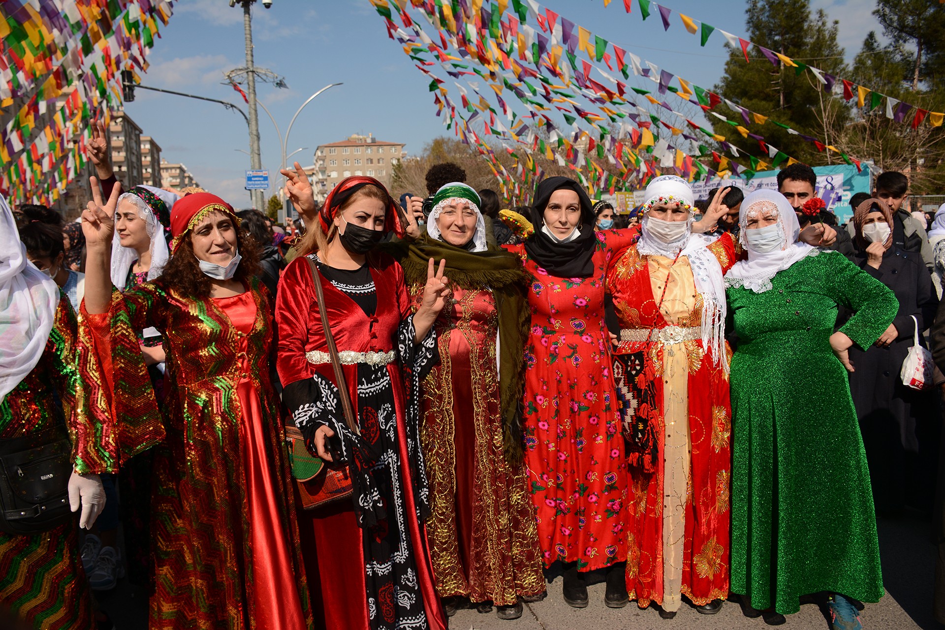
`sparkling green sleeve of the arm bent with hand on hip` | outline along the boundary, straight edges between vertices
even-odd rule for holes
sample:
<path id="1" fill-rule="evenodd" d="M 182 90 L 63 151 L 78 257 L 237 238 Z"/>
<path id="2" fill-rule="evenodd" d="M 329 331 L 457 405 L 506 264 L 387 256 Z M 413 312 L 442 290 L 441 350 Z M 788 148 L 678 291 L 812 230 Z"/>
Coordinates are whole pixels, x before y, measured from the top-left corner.
<path id="1" fill-rule="evenodd" d="M 825 277 L 837 304 L 854 312 L 840 332 L 861 349 L 868 349 L 885 332 L 899 312 L 899 300 L 876 280 L 836 251 L 822 251 L 814 259 L 828 266 Z"/>

